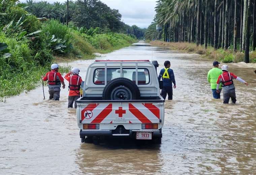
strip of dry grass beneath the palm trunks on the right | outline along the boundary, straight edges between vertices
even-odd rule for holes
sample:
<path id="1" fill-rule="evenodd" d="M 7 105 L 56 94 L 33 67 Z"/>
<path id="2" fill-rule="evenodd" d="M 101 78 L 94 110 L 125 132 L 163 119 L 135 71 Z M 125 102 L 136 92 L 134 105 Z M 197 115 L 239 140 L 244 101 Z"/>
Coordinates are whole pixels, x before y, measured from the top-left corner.
<path id="1" fill-rule="evenodd" d="M 223 63 L 239 63 L 243 62 L 245 58 L 244 52 L 236 51 L 230 49 L 214 49 L 212 46 L 208 46 L 204 49 L 203 45 L 196 45 L 196 43 L 189 43 L 189 42 L 164 42 L 164 41 L 147 41 L 152 45 L 155 46 L 163 46 L 169 47 L 171 50 L 179 50 L 184 51 L 187 53 L 197 53 L 206 58 L 220 61 Z M 250 52 L 250 62 L 256 63 L 256 51 Z"/>

